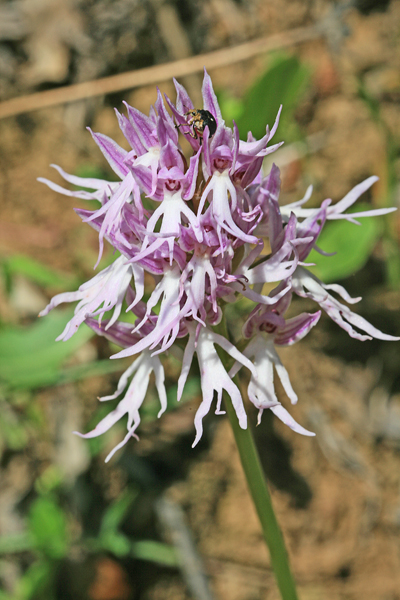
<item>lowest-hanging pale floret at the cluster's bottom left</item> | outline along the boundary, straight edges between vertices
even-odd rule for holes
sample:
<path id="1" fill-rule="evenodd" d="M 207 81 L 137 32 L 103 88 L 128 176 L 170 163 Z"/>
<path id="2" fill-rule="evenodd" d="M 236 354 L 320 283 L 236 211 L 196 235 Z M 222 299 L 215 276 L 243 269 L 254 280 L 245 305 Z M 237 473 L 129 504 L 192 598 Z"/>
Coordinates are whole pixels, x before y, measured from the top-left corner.
<path id="1" fill-rule="evenodd" d="M 124 398 L 119 402 L 117 408 L 111 411 L 104 419 L 100 421 L 89 433 L 79 433 L 75 431 L 77 435 L 82 438 L 94 438 L 102 435 L 108 431 L 117 421 L 122 419 L 124 415 L 128 415 L 127 429 L 128 433 L 115 448 L 108 454 L 106 462 L 114 456 L 120 448 L 122 448 L 127 441 L 132 437 L 137 437 L 135 434 L 136 429 L 140 424 L 139 409 L 145 399 L 147 388 L 149 386 L 149 380 L 151 373 L 154 372 L 157 392 L 160 398 L 161 409 L 158 413 L 160 417 L 167 408 L 167 392 L 164 385 L 164 368 L 160 362 L 158 356 L 150 356 L 150 353 L 144 351 L 141 355 L 132 363 L 132 365 L 123 373 L 121 376 L 117 389 L 111 396 L 103 396 L 100 398 L 102 402 L 106 400 L 114 400 L 118 398 L 128 385 L 129 378 L 132 377 L 132 381 L 125 393 Z"/>

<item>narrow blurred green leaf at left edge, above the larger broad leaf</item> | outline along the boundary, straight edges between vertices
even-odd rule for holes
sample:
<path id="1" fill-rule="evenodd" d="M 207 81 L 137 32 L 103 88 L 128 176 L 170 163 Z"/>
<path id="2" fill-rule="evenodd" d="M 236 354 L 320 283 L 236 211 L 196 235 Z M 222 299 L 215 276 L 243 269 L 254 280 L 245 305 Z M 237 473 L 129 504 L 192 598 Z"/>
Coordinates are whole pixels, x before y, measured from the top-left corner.
<path id="1" fill-rule="evenodd" d="M 79 285 L 79 281 L 74 275 L 50 269 L 29 256 L 10 256 L 3 261 L 3 268 L 8 277 L 23 275 L 45 288 L 77 287 Z"/>

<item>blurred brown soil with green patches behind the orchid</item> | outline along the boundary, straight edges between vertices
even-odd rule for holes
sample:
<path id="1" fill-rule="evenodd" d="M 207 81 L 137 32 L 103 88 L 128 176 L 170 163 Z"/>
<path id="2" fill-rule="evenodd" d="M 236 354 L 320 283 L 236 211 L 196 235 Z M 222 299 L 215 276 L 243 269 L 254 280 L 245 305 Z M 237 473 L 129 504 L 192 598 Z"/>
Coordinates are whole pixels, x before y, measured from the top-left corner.
<path id="1" fill-rule="evenodd" d="M 300 199 L 309 184 L 315 205 L 337 201 L 376 174 L 362 202 L 398 205 L 398 0 L 3 1 L 0 101 L 298 27 L 318 35 L 285 54 L 210 71 L 223 112 L 245 127 L 243 107 L 263 74 L 265 84 L 274 64 L 292 69 L 290 119 L 277 134 L 288 143 L 273 156 L 282 201 Z M 199 107 L 201 79 L 181 80 Z M 175 98 L 170 81 L 159 85 Z M 279 85 L 265 88 L 266 103 L 280 104 Z M 278 598 L 228 422 L 210 416 L 191 449 L 196 374 L 186 401 L 160 420 L 152 392 L 140 442 L 105 465 L 122 428 L 91 441 L 71 432 L 89 430 L 110 410 L 97 397 L 113 392 L 129 363 L 110 365 L 112 348 L 88 332 L 75 345 L 54 344 L 68 319 L 62 309 L 48 325 L 36 319 L 54 293 L 92 277 L 98 252 L 97 234 L 72 210 L 84 203 L 36 178 L 61 183 L 51 163 L 112 178 L 85 127 L 124 145 L 113 107 L 122 111 L 126 100 L 148 113 L 155 99 L 151 85 L 0 121 L 1 600 Z M 263 103 L 251 111 L 265 127 Z M 339 240 L 342 263 L 361 253 L 361 270 L 339 266 L 335 279 L 363 296 L 360 314 L 400 335 L 400 222 L 397 214 L 379 222 L 363 251 L 351 246 L 362 228 Z M 294 303 L 294 312 L 307 309 L 314 310 Z M 399 346 L 357 342 L 323 317 L 281 358 L 299 396 L 291 412 L 317 436 L 297 436 L 269 414 L 255 436 L 299 596 L 399 600 Z M 167 363 L 173 405 L 179 367 L 172 357 Z"/>

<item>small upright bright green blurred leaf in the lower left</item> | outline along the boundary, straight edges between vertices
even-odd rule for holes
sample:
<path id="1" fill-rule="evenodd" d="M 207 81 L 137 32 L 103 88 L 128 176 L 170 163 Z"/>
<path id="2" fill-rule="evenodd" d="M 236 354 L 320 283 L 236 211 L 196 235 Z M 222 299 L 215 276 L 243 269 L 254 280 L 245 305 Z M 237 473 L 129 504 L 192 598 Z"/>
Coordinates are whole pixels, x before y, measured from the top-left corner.
<path id="1" fill-rule="evenodd" d="M 50 496 L 37 498 L 28 517 L 29 531 L 35 546 L 49 558 L 63 558 L 68 548 L 67 519 Z"/>

